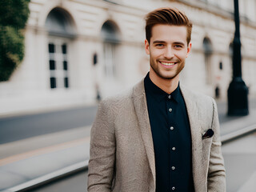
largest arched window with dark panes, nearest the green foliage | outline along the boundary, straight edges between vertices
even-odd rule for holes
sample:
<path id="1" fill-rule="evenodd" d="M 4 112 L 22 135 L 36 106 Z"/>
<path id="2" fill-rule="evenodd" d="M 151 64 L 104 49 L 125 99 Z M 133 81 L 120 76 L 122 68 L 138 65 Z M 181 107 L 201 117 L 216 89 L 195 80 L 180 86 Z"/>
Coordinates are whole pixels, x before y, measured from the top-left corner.
<path id="1" fill-rule="evenodd" d="M 46 18 L 49 43 L 50 88 L 68 88 L 69 42 L 74 38 L 74 26 L 70 15 L 60 8 L 51 10 Z"/>

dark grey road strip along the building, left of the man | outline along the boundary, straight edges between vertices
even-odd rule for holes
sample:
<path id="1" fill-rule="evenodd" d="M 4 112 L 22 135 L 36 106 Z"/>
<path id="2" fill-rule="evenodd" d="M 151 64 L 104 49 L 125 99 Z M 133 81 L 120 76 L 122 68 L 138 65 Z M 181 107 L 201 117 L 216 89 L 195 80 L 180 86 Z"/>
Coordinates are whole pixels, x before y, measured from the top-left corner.
<path id="1" fill-rule="evenodd" d="M 0 118 L 0 145 L 42 134 L 90 126 L 97 106 L 30 114 L 12 118 Z"/>

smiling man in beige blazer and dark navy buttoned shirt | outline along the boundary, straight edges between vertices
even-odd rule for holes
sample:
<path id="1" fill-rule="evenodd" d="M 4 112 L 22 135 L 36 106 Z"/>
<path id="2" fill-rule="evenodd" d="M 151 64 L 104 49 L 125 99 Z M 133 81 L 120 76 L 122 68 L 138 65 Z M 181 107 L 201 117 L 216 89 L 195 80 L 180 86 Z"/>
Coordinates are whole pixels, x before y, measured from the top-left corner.
<path id="1" fill-rule="evenodd" d="M 214 99 L 179 84 L 192 24 L 179 10 L 146 16 L 150 72 L 98 106 L 88 191 L 226 191 Z"/>

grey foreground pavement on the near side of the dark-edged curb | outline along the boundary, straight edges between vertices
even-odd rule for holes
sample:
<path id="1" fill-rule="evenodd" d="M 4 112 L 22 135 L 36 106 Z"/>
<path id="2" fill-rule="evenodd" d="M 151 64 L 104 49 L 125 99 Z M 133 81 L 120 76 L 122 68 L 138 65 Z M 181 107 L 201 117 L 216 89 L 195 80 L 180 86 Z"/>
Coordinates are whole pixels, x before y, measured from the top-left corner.
<path id="1" fill-rule="evenodd" d="M 252 192 L 240 189 L 256 171 L 256 132 L 222 146 L 226 167 L 227 192 Z M 71 175 L 41 188 L 30 190 L 34 192 L 84 192 L 87 191 L 87 171 Z M 253 179 L 253 178 L 251 178 Z"/>

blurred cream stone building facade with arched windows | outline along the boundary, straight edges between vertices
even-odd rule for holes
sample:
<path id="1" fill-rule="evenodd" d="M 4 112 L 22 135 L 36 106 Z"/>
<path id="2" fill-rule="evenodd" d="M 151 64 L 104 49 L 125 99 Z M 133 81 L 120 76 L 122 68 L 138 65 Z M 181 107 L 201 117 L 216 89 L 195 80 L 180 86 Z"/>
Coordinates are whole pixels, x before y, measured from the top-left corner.
<path id="1" fill-rule="evenodd" d="M 31 0 L 26 55 L 10 81 L 0 82 L 0 114 L 91 103 L 133 86 L 149 70 L 143 18 L 163 6 L 184 11 L 194 24 L 181 82 L 226 99 L 233 0 Z M 239 6 L 242 77 L 255 94 L 256 2 Z"/>

